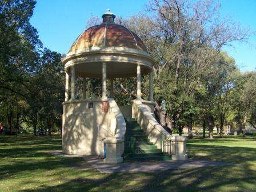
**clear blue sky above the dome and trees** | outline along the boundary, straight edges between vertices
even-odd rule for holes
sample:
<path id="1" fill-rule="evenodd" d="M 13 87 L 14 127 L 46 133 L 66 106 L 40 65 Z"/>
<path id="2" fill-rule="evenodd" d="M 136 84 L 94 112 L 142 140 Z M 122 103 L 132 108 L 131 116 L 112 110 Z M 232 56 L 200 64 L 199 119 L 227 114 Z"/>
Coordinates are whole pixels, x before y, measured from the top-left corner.
<path id="1" fill-rule="evenodd" d="M 143 11 L 147 0 L 38 0 L 30 19 L 43 46 L 67 53 L 75 39 L 86 27 L 91 15 L 101 17 L 107 9 L 123 18 Z M 220 0 L 221 17 L 231 17 L 242 27 L 256 31 L 256 0 Z M 223 47 L 233 57 L 241 71 L 256 70 L 256 33 L 250 43 L 232 43 Z"/>

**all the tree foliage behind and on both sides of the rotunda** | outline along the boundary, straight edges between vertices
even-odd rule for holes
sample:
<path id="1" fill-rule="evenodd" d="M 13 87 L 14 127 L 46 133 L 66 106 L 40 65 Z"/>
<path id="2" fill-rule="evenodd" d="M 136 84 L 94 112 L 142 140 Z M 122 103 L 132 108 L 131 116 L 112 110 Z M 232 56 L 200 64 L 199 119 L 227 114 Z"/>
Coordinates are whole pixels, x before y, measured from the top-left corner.
<path id="1" fill-rule="evenodd" d="M 43 129 L 51 133 L 62 124 L 63 55 L 42 49 L 29 23 L 34 6 L 33 0 L 0 2 L 0 123 L 10 130 L 26 123 L 34 134 Z M 154 97 L 158 105 L 166 102 L 162 114 L 170 130 L 182 133 L 183 127 L 206 122 L 210 133 L 214 126 L 222 133 L 224 125 L 238 130 L 256 124 L 255 72 L 242 74 L 234 59 L 221 51 L 248 33 L 220 19 L 218 9 L 208 1 L 154 0 L 147 5 L 149 12 L 116 19 L 139 35 L 155 60 Z M 92 15 L 86 27 L 97 24 L 99 18 Z M 86 82 L 87 98 L 101 97 L 101 78 Z M 148 87 L 145 75 L 145 100 Z M 75 98 L 82 98 L 79 77 L 76 89 Z M 136 97 L 136 78 L 115 79 L 114 92 L 118 105 L 130 105 Z"/>

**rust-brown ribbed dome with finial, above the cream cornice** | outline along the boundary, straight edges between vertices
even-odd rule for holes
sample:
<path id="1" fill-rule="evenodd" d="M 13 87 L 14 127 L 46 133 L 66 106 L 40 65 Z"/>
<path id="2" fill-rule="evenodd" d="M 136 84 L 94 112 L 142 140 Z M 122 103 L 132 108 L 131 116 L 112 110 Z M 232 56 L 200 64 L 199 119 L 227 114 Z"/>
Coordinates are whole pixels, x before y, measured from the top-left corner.
<path id="1" fill-rule="evenodd" d="M 147 48 L 138 35 L 126 27 L 114 23 L 114 14 L 105 13 L 102 18 L 101 25 L 90 27 L 79 35 L 68 54 L 98 50 L 103 47 L 127 47 L 147 53 Z"/>

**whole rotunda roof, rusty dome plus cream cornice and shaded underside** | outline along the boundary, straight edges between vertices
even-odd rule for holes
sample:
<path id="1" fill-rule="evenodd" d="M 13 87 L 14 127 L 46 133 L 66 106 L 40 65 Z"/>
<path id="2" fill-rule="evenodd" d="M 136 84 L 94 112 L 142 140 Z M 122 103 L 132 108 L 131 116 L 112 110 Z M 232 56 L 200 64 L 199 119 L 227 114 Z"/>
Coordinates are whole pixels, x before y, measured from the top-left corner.
<path id="1" fill-rule="evenodd" d="M 102 63 L 107 63 L 107 78 L 136 77 L 150 73 L 154 60 L 141 39 L 122 25 L 114 23 L 115 15 L 102 15 L 101 25 L 90 27 L 75 40 L 62 59 L 65 70 L 75 67 L 80 77 L 101 77 Z"/>

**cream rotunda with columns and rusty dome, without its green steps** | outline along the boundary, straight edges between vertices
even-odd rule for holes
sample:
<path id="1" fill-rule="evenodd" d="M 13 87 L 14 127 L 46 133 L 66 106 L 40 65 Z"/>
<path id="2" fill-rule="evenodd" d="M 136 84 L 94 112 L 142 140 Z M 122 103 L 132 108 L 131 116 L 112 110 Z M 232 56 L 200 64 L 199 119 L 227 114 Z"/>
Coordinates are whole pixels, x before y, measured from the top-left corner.
<path id="1" fill-rule="evenodd" d="M 109 163 L 122 162 L 122 154 L 125 150 L 125 118 L 133 117 L 139 124 L 143 123 L 147 127 L 154 128 L 155 125 L 159 125 L 153 115 L 154 60 L 138 35 L 122 25 L 117 25 L 114 18 L 115 15 L 110 11 L 103 14 L 102 23 L 90 27 L 79 35 L 66 57 L 62 59 L 66 72 L 62 126 L 63 153 L 104 155 L 105 151 L 105 156 L 109 157 L 105 158 L 105 162 Z M 146 74 L 150 76 L 150 101 L 141 98 L 141 75 Z M 76 77 L 83 78 L 83 97 L 79 100 L 75 99 Z M 87 99 L 86 78 L 94 77 L 102 78 L 102 96 Z M 117 106 L 113 99 L 113 81 L 115 78 L 127 77 L 137 77 L 137 99 L 131 101 L 132 106 Z M 111 80 L 109 99 L 107 79 Z M 140 110 L 144 111 L 139 113 Z M 160 137 L 169 135 L 159 126 L 160 135 L 155 133 L 154 135 L 158 136 L 150 138 L 158 146 L 160 146 Z M 149 134 L 147 135 L 151 137 Z"/>

